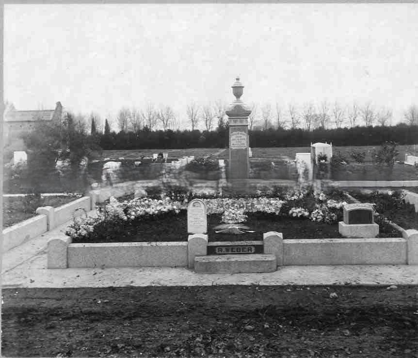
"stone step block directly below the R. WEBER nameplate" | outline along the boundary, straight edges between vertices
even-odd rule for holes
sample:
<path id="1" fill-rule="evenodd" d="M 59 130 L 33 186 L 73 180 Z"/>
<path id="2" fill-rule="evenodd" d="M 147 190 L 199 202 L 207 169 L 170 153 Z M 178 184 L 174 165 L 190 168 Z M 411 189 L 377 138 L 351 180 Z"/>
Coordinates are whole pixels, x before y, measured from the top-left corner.
<path id="1" fill-rule="evenodd" d="M 272 254 L 210 255 L 194 259 L 197 273 L 259 273 L 276 271 L 276 256 Z"/>

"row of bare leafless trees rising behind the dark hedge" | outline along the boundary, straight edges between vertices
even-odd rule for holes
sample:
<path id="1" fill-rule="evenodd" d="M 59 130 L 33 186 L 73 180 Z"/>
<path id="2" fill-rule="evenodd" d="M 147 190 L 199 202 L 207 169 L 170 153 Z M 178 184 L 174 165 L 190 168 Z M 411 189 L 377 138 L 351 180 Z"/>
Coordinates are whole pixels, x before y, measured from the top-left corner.
<path id="1" fill-rule="evenodd" d="M 147 104 L 142 110 L 135 107 L 123 107 L 116 115 L 116 125 L 118 130 L 124 132 L 137 132 L 145 127 L 148 130 L 168 130 L 180 129 L 184 126 L 192 130 L 203 128 L 211 131 L 225 126 L 227 120 L 226 108 L 226 104 L 221 100 L 207 105 L 190 102 L 186 106 L 186 121 L 179 121 L 178 116 L 170 106 L 157 108 L 153 104 Z M 291 103 L 284 107 L 276 103 L 275 108 L 272 108 L 271 104 L 267 103 L 261 107 L 252 104 L 250 108 L 249 130 L 304 128 L 310 131 L 317 128 L 388 126 L 392 122 L 392 111 L 390 109 L 386 107 L 377 108 L 371 102 L 363 105 L 353 102 L 347 106 L 338 101 L 330 103 L 324 100 L 319 105 L 308 102 L 303 106 L 296 106 Z M 409 125 L 418 125 L 417 105 L 408 107 L 404 112 L 403 121 Z M 93 126 L 93 122 L 95 130 L 101 132 L 103 123 L 96 112 L 92 112 L 89 116 L 83 116 L 82 114 L 75 116 L 75 123 L 80 128 L 84 127 L 85 130 L 88 130 L 90 124 Z"/>

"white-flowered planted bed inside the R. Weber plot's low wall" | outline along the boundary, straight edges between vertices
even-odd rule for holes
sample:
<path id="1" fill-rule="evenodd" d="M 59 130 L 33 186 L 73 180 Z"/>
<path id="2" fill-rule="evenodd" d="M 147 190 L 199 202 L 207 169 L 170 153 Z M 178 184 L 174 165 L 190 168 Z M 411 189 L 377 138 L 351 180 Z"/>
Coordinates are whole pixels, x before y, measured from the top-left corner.
<path id="1" fill-rule="evenodd" d="M 276 193 L 277 194 L 277 193 Z M 178 242 L 187 240 L 187 203 L 191 193 L 170 193 L 160 198 L 137 198 L 123 202 L 111 198 L 97 217 L 78 217 L 66 232 L 73 243 Z M 284 239 L 340 238 L 345 201 L 342 192 L 296 191 L 268 197 L 205 197 L 209 241 L 262 240 L 264 232 L 282 232 Z M 348 201 L 348 199 L 346 199 Z M 221 223 L 242 223 L 249 231 L 241 235 L 217 233 Z M 380 237 L 401 236 L 393 228 Z"/>

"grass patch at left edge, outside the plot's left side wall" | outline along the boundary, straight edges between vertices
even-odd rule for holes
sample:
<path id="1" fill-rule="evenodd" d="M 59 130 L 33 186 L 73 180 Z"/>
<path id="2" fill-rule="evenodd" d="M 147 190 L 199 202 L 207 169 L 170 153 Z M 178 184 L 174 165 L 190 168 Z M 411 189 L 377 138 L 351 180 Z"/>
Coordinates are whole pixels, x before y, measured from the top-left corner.
<path id="1" fill-rule="evenodd" d="M 45 196 L 36 198 L 32 195 L 26 197 L 3 196 L 3 227 L 7 228 L 23 220 L 36 216 L 36 209 L 41 206 L 57 208 L 80 196 Z"/>

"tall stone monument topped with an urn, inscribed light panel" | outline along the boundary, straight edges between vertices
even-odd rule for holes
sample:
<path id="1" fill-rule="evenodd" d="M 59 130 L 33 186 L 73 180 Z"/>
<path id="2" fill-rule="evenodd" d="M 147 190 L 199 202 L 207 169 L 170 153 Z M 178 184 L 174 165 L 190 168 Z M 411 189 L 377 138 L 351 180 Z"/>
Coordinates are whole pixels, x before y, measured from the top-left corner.
<path id="1" fill-rule="evenodd" d="M 251 110 L 241 101 L 244 86 L 237 77 L 232 85 L 235 101 L 226 110 L 229 118 L 229 178 L 248 179 L 248 116 Z"/>

